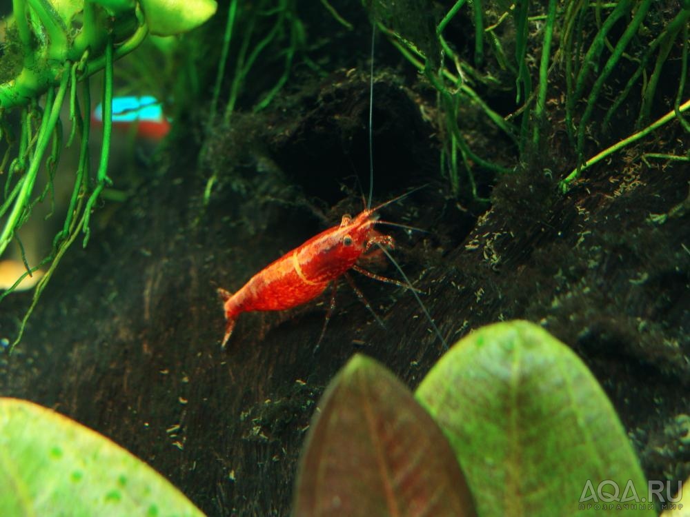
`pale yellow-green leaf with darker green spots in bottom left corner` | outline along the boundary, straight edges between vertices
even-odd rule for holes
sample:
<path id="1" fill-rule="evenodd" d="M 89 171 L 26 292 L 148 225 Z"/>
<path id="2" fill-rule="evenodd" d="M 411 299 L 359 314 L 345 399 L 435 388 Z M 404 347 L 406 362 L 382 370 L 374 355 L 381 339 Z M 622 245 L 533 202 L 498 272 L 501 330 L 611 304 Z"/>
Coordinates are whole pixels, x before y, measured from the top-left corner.
<path id="1" fill-rule="evenodd" d="M 3 517 L 204 514 L 155 470 L 56 412 L 0 398 Z"/>

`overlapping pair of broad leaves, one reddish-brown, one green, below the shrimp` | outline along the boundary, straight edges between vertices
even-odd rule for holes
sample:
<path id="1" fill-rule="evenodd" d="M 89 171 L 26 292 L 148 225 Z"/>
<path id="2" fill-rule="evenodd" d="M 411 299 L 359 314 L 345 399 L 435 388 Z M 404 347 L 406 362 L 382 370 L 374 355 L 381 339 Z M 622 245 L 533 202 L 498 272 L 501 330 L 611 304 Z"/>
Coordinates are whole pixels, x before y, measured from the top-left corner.
<path id="1" fill-rule="evenodd" d="M 382 365 L 352 358 L 315 413 L 295 516 L 384 514 L 380 509 L 457 516 L 475 508 L 480 517 L 655 515 L 649 503 L 580 503 L 591 495 L 588 482 L 604 498 L 615 497 L 617 483 L 620 496 L 634 489 L 642 500 L 647 480 L 599 383 L 538 325 L 511 321 L 472 332 L 414 398 Z M 442 460 L 447 445 L 463 476 Z"/>

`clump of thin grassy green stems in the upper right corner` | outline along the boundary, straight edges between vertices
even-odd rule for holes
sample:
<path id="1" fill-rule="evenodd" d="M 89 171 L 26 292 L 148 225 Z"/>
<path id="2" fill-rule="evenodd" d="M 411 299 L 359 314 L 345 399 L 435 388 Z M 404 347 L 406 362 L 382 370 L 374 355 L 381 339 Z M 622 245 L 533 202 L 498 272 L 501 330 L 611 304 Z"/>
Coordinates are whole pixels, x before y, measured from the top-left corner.
<path id="1" fill-rule="evenodd" d="M 519 171 L 522 163 L 540 156 L 548 149 L 546 124 L 560 124 L 561 112 L 575 159 L 575 168 L 561 176 L 563 192 L 582 170 L 671 121 L 690 132 L 684 115 L 690 109 L 687 1 L 456 0 L 439 13 L 417 0 L 362 2 L 380 30 L 437 91 L 444 129 L 441 168 L 454 194 L 469 192 L 480 199 L 477 174 Z M 453 24 L 456 31 L 462 27 L 469 33 L 471 49 L 451 40 Z M 680 73 L 669 76 L 678 61 Z M 670 103 L 658 91 L 664 81 L 675 91 Z M 482 98 L 492 90 L 515 95 L 513 112 L 500 114 Z M 636 90 L 639 100 L 633 98 Z M 486 128 L 493 125 L 515 145 L 512 165 L 473 150 L 461 126 L 463 109 L 470 105 L 484 114 Z M 586 159 L 587 139 L 597 139 L 600 129 L 617 119 L 627 125 L 632 110 L 636 115 L 629 136 Z M 653 112 L 665 114 L 651 122 Z M 605 136 L 601 134 L 604 141 Z"/>

